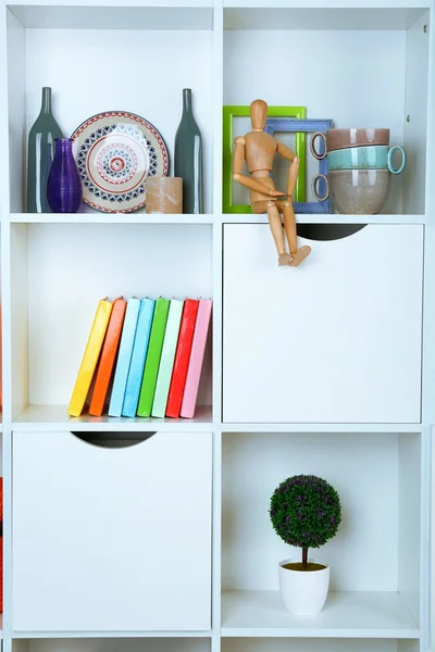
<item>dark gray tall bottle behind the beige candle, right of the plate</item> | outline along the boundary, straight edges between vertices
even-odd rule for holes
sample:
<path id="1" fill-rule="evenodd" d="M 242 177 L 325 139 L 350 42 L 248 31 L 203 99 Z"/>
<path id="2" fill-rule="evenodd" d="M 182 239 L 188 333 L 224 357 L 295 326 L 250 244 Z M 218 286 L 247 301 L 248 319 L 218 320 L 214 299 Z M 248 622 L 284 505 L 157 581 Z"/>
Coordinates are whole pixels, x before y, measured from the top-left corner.
<path id="1" fill-rule="evenodd" d="M 183 179 L 183 213 L 202 213 L 202 138 L 191 110 L 191 89 L 183 89 L 183 115 L 175 134 L 174 175 Z"/>

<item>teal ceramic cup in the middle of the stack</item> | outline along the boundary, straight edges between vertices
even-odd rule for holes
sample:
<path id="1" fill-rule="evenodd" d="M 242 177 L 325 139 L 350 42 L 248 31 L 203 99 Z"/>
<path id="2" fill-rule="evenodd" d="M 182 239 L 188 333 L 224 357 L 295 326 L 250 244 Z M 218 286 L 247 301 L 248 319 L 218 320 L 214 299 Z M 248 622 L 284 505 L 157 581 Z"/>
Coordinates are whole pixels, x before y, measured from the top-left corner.
<path id="1" fill-rule="evenodd" d="M 393 164 L 395 152 L 400 152 L 399 167 Z M 400 174 L 407 165 L 407 154 L 402 147 L 395 145 L 370 145 L 349 147 L 327 152 L 327 163 L 331 171 L 335 170 L 389 170 L 391 174 Z"/>

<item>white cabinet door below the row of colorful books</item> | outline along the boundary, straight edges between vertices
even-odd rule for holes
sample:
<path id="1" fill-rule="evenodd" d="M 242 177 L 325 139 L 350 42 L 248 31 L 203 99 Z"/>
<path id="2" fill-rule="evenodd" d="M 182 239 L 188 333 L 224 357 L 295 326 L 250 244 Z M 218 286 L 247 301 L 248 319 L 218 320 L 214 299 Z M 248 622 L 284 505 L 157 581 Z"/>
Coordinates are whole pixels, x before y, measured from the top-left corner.
<path id="1" fill-rule="evenodd" d="M 211 432 L 13 434 L 15 631 L 204 630 Z"/>

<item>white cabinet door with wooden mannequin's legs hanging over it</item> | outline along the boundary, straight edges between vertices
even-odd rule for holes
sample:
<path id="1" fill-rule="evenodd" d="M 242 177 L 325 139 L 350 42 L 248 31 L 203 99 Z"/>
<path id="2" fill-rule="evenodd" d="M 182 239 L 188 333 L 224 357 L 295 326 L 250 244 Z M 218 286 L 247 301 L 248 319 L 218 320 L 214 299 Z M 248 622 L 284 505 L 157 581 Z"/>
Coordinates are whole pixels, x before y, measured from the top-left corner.
<path id="1" fill-rule="evenodd" d="M 224 422 L 419 423 L 423 226 L 302 244 L 278 267 L 269 225 L 224 227 Z"/>

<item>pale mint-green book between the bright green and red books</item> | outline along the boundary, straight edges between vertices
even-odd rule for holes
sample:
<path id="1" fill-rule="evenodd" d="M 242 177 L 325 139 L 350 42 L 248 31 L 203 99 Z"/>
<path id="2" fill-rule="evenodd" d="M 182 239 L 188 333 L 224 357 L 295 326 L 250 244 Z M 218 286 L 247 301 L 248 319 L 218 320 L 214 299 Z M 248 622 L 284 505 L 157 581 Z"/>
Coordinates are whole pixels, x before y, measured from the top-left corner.
<path id="1" fill-rule="evenodd" d="M 179 301 L 178 299 L 172 299 L 171 301 L 151 416 L 163 417 L 166 412 L 167 394 L 170 392 L 172 368 L 174 366 L 175 351 L 178 341 L 183 304 L 184 301 Z"/>

